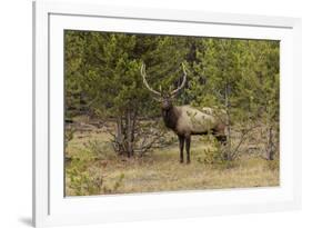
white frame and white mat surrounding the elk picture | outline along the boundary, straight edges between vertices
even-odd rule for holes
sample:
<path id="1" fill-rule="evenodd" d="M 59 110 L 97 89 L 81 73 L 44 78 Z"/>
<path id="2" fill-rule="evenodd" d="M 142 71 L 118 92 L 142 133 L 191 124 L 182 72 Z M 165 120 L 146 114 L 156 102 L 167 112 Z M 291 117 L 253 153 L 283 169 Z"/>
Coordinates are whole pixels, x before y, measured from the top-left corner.
<path id="1" fill-rule="evenodd" d="M 280 187 L 64 197 L 64 29 L 281 40 Z M 90 3 L 33 2 L 33 225 L 48 227 L 299 209 L 300 85 L 300 19 Z"/>

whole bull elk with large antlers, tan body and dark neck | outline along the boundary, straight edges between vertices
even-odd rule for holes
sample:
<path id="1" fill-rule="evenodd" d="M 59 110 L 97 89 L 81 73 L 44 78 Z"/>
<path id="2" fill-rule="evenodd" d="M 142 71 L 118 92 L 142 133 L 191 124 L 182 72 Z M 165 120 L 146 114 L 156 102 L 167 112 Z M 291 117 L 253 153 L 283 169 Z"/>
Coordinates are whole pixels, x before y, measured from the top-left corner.
<path id="1" fill-rule="evenodd" d="M 173 91 L 160 92 L 152 89 L 147 81 L 145 66 L 141 67 L 141 75 L 143 78 L 144 86 L 161 101 L 161 113 L 167 128 L 173 130 L 179 138 L 180 143 L 180 162 L 183 162 L 183 150 L 185 145 L 187 150 L 187 162 L 190 159 L 190 147 L 191 147 L 191 136 L 192 135 L 208 135 L 212 133 L 215 138 L 224 143 L 227 137 L 224 135 L 225 125 L 223 121 L 212 113 L 204 113 L 190 106 L 174 106 L 173 98 L 177 93 L 185 86 L 187 82 L 187 71 L 184 66 L 183 69 L 183 81 Z M 210 109 L 210 108 L 209 108 Z"/>

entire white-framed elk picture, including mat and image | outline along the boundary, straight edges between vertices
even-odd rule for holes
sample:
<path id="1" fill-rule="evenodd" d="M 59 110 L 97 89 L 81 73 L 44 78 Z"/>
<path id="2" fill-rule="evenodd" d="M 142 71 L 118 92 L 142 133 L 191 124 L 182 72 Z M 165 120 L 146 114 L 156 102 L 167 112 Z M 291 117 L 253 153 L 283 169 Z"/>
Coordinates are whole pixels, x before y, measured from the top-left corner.
<path id="1" fill-rule="evenodd" d="M 300 19 L 33 2 L 34 226 L 299 209 L 300 85 Z"/>

